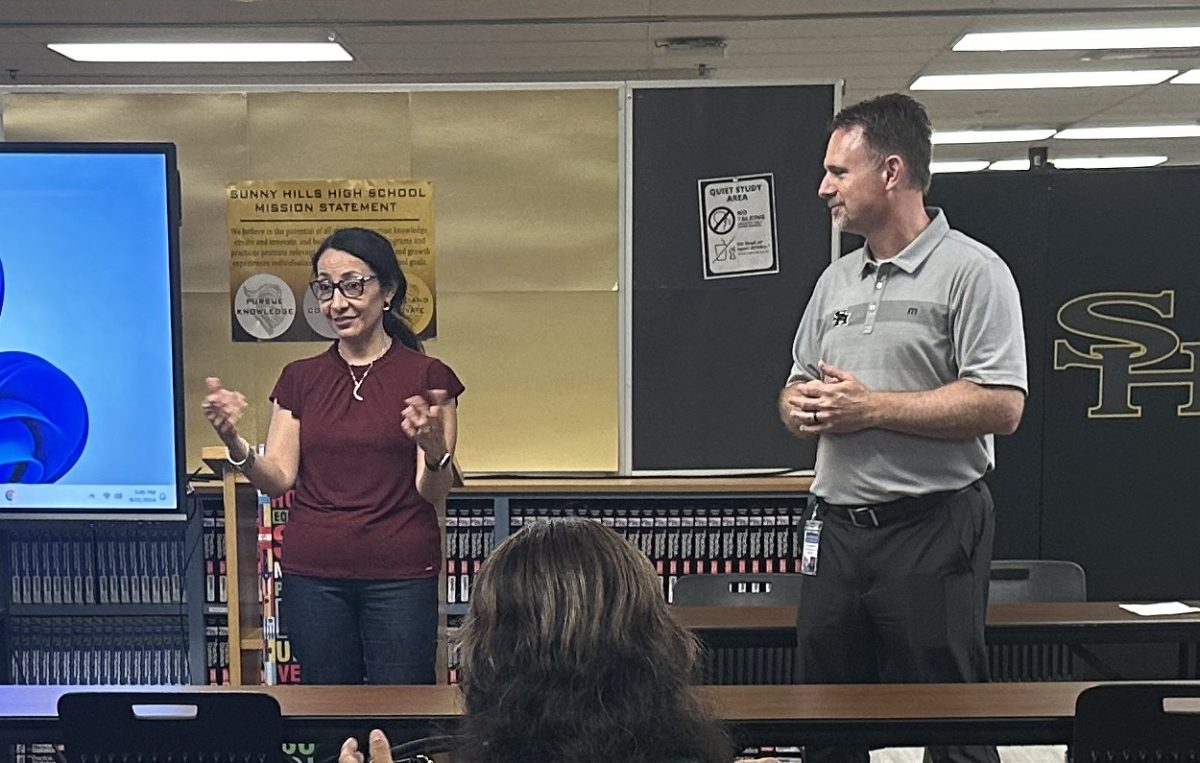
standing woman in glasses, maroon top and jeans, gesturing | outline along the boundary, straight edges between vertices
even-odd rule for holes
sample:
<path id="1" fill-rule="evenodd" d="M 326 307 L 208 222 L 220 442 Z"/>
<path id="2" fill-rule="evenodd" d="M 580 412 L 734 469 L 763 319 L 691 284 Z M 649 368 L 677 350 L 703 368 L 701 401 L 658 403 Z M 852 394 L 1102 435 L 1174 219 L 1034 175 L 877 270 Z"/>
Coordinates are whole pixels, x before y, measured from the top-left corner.
<path id="1" fill-rule="evenodd" d="M 295 487 L 283 539 L 283 613 L 305 684 L 432 684 L 440 534 L 433 504 L 463 385 L 420 352 L 400 317 L 407 282 L 391 244 L 334 232 L 311 288 L 337 332 L 288 364 L 271 392 L 266 451 L 238 434 L 246 398 L 210 378 L 204 410 L 253 485 Z"/>

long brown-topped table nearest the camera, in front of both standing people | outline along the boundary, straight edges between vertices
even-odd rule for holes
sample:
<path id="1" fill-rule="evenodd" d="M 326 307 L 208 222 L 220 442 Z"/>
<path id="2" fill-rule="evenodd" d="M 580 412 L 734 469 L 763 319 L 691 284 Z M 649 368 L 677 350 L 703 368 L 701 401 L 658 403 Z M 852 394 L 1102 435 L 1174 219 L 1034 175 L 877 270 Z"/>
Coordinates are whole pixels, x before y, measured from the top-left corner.
<path id="1" fill-rule="evenodd" d="M 703 686 L 697 691 L 746 744 L 845 744 L 850 739 L 869 746 L 1066 744 L 1075 697 L 1090 685 Z M 1200 684 L 1188 685 L 1200 691 Z M 0 741 L 58 739 L 59 696 L 97 690 L 0 686 Z M 230 691 L 218 686 L 190 690 Z M 262 686 L 256 691 L 278 699 L 286 731 L 295 739 L 361 735 L 373 726 L 452 723 L 461 713 L 454 686 Z"/>

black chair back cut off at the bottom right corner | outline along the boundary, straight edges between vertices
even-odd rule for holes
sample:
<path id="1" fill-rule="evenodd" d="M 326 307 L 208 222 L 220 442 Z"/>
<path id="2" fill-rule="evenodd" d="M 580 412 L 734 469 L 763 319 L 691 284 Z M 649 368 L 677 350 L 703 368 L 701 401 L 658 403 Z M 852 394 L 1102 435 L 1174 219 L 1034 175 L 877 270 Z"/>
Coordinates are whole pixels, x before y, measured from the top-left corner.
<path id="1" fill-rule="evenodd" d="M 1102 684 L 1075 701 L 1076 763 L 1195 761 L 1200 686 Z"/>

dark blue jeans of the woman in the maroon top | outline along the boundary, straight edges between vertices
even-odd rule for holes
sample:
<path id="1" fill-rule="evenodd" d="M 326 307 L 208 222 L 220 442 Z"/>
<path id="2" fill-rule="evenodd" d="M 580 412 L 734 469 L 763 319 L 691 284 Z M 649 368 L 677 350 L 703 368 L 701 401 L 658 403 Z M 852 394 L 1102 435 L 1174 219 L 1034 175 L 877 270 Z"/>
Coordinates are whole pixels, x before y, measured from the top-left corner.
<path id="1" fill-rule="evenodd" d="M 282 614 L 302 684 L 432 684 L 438 579 L 288 573 Z"/>

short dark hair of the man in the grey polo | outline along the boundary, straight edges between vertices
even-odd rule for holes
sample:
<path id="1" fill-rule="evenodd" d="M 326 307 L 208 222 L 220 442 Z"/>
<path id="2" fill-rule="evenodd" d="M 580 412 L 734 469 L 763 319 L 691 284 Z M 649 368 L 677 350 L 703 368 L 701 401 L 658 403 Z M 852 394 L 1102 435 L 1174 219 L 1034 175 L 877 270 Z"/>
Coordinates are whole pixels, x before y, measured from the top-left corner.
<path id="1" fill-rule="evenodd" d="M 912 187 L 929 191 L 932 127 L 919 101 L 889 92 L 847 106 L 833 118 L 830 131 L 850 127 L 862 127 L 868 148 L 880 158 L 899 155 Z"/>

